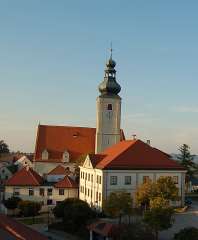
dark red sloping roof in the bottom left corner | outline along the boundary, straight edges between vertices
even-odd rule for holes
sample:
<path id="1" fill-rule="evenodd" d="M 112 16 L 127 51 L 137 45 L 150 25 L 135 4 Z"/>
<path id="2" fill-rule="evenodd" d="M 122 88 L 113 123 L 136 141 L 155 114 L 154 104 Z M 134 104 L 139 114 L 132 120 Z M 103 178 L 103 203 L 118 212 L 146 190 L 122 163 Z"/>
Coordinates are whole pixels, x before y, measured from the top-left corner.
<path id="1" fill-rule="evenodd" d="M 16 220 L 0 214 L 0 228 L 18 240 L 47 240 L 41 233 L 17 222 Z M 8 235 L 9 237 L 9 235 Z M 6 238 L 7 239 L 7 238 Z"/>

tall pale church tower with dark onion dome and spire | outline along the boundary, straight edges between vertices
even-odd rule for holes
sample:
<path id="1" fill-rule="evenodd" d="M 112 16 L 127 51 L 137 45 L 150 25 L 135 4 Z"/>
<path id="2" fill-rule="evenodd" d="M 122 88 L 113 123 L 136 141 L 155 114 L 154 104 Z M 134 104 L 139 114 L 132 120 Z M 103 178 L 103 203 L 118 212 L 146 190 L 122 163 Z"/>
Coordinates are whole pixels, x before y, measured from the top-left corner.
<path id="1" fill-rule="evenodd" d="M 100 95 L 97 97 L 96 145 L 95 153 L 101 153 L 120 141 L 121 90 L 116 82 L 116 62 L 111 56 L 106 63 L 105 76 L 99 85 Z"/>

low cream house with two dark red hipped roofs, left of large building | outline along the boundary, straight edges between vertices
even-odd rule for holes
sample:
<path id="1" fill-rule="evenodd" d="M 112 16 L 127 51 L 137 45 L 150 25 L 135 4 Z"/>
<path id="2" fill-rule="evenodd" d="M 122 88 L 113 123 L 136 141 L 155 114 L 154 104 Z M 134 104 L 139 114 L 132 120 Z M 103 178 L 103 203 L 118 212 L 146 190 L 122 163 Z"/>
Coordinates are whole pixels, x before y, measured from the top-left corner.
<path id="1" fill-rule="evenodd" d="M 5 183 L 4 198 L 12 196 L 41 202 L 45 210 L 66 198 L 78 197 L 78 184 L 68 175 L 57 182 L 48 182 L 33 169 L 24 167 Z"/>

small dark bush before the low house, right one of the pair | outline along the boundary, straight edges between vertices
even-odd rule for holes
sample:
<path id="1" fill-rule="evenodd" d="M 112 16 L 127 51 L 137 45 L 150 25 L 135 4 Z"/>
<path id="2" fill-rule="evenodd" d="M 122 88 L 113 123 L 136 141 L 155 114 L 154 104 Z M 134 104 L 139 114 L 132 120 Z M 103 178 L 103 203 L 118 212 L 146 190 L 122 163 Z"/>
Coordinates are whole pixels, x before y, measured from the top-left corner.
<path id="1" fill-rule="evenodd" d="M 41 210 L 41 204 L 32 201 L 20 201 L 18 208 L 24 217 L 31 217 L 38 215 L 38 212 Z"/>

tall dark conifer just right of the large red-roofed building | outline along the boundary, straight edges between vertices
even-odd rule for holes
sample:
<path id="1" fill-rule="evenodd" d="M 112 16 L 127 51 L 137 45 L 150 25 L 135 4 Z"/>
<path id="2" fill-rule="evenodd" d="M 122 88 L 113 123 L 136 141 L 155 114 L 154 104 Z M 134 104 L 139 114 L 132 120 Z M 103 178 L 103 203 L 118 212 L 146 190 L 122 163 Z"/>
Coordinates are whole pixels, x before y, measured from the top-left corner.
<path id="1" fill-rule="evenodd" d="M 193 161 L 194 155 L 190 153 L 190 147 L 187 144 L 183 144 L 179 147 L 180 154 L 177 157 L 179 163 L 186 168 L 187 177 L 191 177 L 194 174 L 195 169 L 197 168 L 195 162 Z"/>

